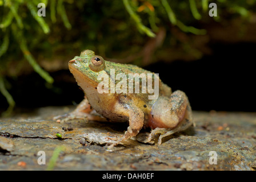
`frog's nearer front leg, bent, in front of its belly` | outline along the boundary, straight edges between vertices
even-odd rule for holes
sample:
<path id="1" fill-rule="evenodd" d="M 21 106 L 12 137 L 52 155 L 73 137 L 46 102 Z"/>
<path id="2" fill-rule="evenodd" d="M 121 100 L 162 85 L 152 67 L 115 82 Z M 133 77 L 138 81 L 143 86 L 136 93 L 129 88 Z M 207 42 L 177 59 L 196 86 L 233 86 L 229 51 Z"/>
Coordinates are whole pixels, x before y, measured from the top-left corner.
<path id="1" fill-rule="evenodd" d="M 111 146 L 109 146 L 108 148 L 109 150 L 112 147 L 116 146 L 117 144 L 129 138 L 135 137 L 143 127 L 143 123 L 144 123 L 143 111 L 133 106 L 129 106 L 126 109 L 128 110 L 128 114 L 129 114 L 129 127 L 127 128 L 127 131 L 125 131 L 125 135 L 123 135 L 122 138 L 118 139 L 116 142 L 111 144 Z"/>

